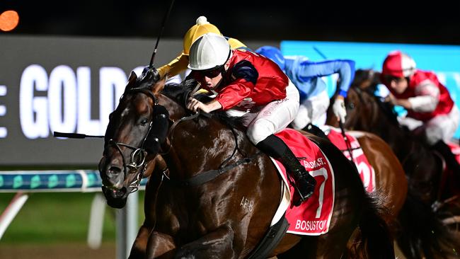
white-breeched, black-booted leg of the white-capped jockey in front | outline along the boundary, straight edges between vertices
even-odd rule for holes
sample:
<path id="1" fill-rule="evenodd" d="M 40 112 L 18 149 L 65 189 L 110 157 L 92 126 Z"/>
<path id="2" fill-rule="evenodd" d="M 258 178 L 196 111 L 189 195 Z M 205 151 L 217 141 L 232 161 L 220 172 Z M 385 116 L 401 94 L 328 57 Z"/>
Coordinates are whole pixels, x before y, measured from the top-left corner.
<path id="1" fill-rule="evenodd" d="M 294 120 L 299 109 L 299 91 L 291 83 L 286 88 L 287 97 L 265 106 L 248 126 L 248 138 L 260 150 L 280 161 L 295 180 L 301 196 L 296 206 L 306 200 L 314 190 L 316 180 L 301 166 L 291 149 L 274 134 L 282 131 Z"/>

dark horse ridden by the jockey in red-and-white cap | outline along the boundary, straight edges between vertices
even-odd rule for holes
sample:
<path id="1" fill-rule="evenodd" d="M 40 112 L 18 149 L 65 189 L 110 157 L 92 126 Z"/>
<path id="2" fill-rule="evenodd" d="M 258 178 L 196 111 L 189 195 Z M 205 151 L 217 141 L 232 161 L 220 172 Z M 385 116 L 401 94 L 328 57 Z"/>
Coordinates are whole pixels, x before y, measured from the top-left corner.
<path id="1" fill-rule="evenodd" d="M 398 245 L 408 258 L 452 256 L 459 251 L 458 239 L 439 221 L 432 211 L 436 201 L 446 197 L 439 188 L 442 160 L 419 139 L 399 125 L 393 108 L 374 96 L 379 74 L 372 70 L 356 71 L 345 98 L 347 121 L 345 128 L 373 132 L 391 146 L 403 165 L 408 178 L 408 198 L 398 217 L 401 224 Z M 334 125 L 332 120 L 328 123 Z M 448 207 L 447 204 L 442 204 Z"/>

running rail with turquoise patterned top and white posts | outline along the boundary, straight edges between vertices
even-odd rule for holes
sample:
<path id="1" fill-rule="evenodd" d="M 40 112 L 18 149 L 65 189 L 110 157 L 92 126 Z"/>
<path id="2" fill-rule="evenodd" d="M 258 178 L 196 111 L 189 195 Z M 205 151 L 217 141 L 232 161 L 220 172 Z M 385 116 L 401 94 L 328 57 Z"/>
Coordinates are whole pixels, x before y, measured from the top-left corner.
<path id="1" fill-rule="evenodd" d="M 144 190 L 143 179 L 139 190 Z M 96 192 L 91 205 L 88 226 L 88 246 L 98 248 L 102 240 L 105 197 L 100 193 L 102 180 L 99 171 L 0 171 L 0 192 L 14 192 L 16 195 L 0 215 L 0 239 L 11 221 L 23 207 L 30 192 Z M 116 213 L 116 258 L 127 258 L 139 225 L 138 192 L 128 196 L 126 206 Z"/>

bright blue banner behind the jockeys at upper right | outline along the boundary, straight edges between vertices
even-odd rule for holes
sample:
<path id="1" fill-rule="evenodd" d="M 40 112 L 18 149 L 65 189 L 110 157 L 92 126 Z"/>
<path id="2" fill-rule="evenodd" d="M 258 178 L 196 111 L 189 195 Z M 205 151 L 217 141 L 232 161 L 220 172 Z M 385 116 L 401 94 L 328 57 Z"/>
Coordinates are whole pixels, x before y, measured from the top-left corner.
<path id="1" fill-rule="evenodd" d="M 303 55 L 312 61 L 325 58 L 352 59 L 357 69 L 377 71 L 381 71 L 381 65 L 389 52 L 401 50 L 413 57 L 418 69 L 435 71 L 456 105 L 459 107 L 460 104 L 460 46 L 291 40 L 282 41 L 280 46 L 284 55 Z M 335 92 L 335 79 L 336 75 L 325 78 L 329 96 Z M 460 127 L 454 137 L 460 138 Z"/>

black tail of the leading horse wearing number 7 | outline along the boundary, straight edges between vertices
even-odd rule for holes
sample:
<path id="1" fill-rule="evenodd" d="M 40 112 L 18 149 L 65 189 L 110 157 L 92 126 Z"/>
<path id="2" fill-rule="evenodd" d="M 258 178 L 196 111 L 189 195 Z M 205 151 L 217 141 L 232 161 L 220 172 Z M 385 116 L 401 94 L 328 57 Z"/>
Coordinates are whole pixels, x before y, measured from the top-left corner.
<path id="1" fill-rule="evenodd" d="M 360 242 L 355 249 L 360 258 L 394 258 L 393 238 L 384 219 L 384 208 L 363 189 Z"/>

